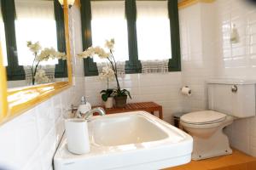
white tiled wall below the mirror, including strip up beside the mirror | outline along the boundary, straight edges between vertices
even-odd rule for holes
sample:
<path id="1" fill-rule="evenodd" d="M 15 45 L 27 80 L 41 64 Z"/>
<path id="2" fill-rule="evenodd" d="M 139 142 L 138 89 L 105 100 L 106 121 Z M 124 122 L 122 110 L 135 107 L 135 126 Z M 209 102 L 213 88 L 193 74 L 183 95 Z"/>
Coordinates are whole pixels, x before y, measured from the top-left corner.
<path id="1" fill-rule="evenodd" d="M 70 26 L 72 54 L 82 51 L 79 8 L 71 11 Z M 79 36 L 77 36 L 79 35 Z M 74 48 L 75 47 L 75 48 Z M 73 77 L 75 86 L 61 94 L 26 111 L 21 116 L 0 127 L 0 169 L 49 170 L 57 144 L 64 132 L 64 113 L 71 104 L 79 104 L 84 95 L 84 73 L 81 59 L 73 58 Z"/>

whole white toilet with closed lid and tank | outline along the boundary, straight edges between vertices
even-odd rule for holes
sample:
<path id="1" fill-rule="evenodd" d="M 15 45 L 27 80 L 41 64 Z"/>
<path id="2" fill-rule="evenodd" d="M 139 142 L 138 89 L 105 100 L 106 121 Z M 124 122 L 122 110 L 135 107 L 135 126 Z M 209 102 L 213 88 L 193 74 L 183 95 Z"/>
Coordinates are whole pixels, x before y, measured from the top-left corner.
<path id="1" fill-rule="evenodd" d="M 224 127 L 235 119 L 255 116 L 256 80 L 214 79 L 207 82 L 209 111 L 181 116 L 183 130 L 193 137 L 192 160 L 232 153 Z"/>

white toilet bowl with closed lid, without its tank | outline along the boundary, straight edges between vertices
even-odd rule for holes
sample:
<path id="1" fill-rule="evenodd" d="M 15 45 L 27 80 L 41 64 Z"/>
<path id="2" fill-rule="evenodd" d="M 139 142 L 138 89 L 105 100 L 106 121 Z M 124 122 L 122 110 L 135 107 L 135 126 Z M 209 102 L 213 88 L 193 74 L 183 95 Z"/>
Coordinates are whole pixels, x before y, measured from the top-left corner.
<path id="1" fill-rule="evenodd" d="M 183 129 L 194 139 L 192 160 L 232 153 L 223 129 L 233 122 L 233 116 L 217 111 L 196 111 L 182 116 L 180 122 Z"/>

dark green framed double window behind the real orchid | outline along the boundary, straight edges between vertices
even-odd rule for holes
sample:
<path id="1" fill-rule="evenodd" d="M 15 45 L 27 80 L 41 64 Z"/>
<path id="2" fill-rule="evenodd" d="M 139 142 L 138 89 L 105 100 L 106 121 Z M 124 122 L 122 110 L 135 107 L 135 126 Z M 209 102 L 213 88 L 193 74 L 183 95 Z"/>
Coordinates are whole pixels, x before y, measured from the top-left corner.
<path id="1" fill-rule="evenodd" d="M 125 73 L 140 73 L 141 60 L 155 59 L 165 59 L 167 71 L 181 70 L 177 0 L 125 0 L 124 12 L 122 1 L 80 2 L 84 50 L 114 37 Z M 98 75 L 93 59 L 84 59 L 84 75 Z"/>

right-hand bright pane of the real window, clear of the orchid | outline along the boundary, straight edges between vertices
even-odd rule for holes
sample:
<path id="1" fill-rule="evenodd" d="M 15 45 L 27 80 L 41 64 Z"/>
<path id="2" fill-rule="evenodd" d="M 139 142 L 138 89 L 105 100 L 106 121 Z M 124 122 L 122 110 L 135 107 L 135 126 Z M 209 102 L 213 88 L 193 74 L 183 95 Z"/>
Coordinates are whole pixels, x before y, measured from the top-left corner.
<path id="1" fill-rule="evenodd" d="M 137 1 L 137 44 L 140 60 L 172 58 L 167 1 Z"/>

